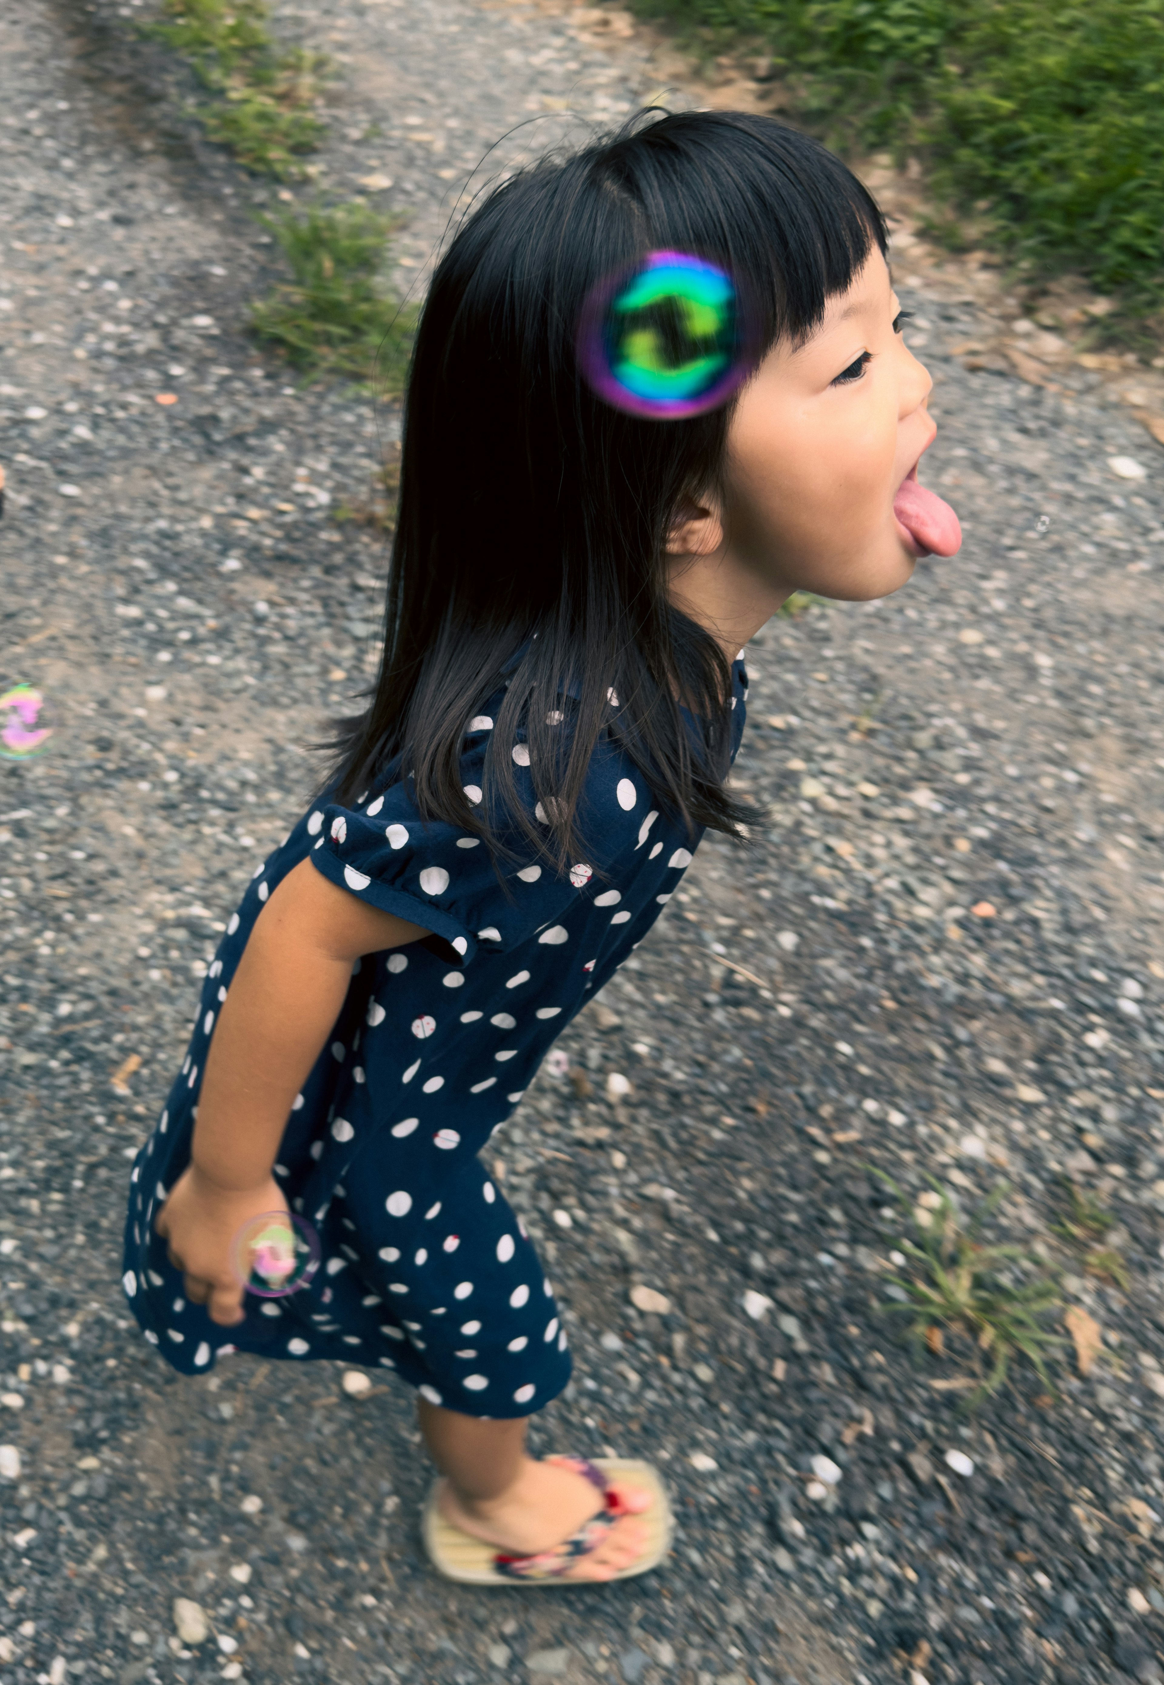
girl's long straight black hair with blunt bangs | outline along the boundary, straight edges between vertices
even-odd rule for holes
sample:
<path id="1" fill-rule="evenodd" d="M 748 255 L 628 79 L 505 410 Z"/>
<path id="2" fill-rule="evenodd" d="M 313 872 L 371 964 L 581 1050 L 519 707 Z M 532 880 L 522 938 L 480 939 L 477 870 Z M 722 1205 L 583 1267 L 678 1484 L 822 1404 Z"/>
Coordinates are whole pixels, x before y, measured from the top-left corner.
<path id="1" fill-rule="evenodd" d="M 515 827 L 561 861 L 578 856 L 586 767 L 611 730 L 665 810 L 734 832 L 728 662 L 670 605 L 665 556 L 684 497 L 719 484 L 731 406 L 623 415 L 581 379 L 576 329 L 603 278 L 679 249 L 736 278 L 763 354 L 810 332 L 874 243 L 881 214 L 839 158 L 738 111 L 640 113 L 492 190 L 419 320 L 384 654 L 323 789 L 350 800 L 392 767 L 426 817 L 490 842 Z M 465 728 L 502 684 L 487 800 L 470 807 Z M 551 723 L 564 706 L 568 730 Z M 517 799 L 519 728 L 547 827 Z"/>

